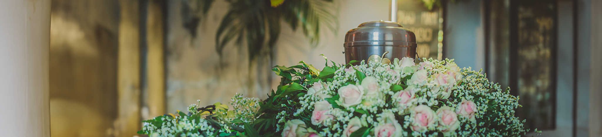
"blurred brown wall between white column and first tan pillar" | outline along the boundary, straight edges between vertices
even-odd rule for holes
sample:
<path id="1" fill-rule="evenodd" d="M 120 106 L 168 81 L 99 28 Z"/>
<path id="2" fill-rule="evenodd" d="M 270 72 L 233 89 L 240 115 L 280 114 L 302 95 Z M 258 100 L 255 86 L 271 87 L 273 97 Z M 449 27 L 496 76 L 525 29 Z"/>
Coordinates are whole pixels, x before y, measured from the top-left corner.
<path id="1" fill-rule="evenodd" d="M 52 1 L 52 136 L 113 136 L 117 118 L 117 1 Z"/>

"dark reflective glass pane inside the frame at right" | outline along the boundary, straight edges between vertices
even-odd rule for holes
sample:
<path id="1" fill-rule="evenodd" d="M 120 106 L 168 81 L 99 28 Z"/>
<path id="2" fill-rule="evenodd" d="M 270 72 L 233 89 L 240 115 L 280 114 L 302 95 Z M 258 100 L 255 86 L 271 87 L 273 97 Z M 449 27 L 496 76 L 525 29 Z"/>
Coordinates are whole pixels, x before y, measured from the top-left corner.
<path id="1" fill-rule="evenodd" d="M 556 2 L 518 2 L 518 95 L 525 127 L 553 129 Z"/>

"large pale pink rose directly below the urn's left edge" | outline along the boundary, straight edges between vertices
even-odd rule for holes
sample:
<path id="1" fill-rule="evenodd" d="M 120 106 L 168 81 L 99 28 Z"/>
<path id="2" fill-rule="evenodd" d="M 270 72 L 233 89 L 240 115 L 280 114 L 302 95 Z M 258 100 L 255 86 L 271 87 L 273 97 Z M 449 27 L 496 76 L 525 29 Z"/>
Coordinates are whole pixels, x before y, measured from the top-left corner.
<path id="1" fill-rule="evenodd" d="M 362 86 L 355 86 L 349 84 L 338 89 L 340 96 L 339 101 L 342 106 L 350 107 L 362 103 L 362 97 L 364 96 L 364 88 Z"/>

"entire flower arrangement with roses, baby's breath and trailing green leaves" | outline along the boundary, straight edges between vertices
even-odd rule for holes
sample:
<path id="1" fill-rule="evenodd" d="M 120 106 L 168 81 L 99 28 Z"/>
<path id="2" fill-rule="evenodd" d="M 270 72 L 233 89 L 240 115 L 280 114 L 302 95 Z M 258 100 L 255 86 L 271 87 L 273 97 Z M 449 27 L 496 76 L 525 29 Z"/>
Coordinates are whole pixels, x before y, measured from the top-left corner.
<path id="1" fill-rule="evenodd" d="M 144 122 L 149 136 L 521 136 L 518 98 L 452 60 L 275 66 L 276 91 Z M 537 130 L 535 130 L 537 132 Z"/>

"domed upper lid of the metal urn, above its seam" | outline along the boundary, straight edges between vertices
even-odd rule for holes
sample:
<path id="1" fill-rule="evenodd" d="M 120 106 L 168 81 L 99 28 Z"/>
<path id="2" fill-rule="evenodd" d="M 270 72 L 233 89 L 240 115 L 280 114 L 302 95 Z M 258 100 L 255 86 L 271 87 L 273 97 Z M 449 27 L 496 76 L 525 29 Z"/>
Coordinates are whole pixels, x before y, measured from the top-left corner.
<path id="1" fill-rule="evenodd" d="M 345 35 L 344 47 L 393 45 L 415 47 L 416 35 L 396 22 L 366 22 Z"/>

